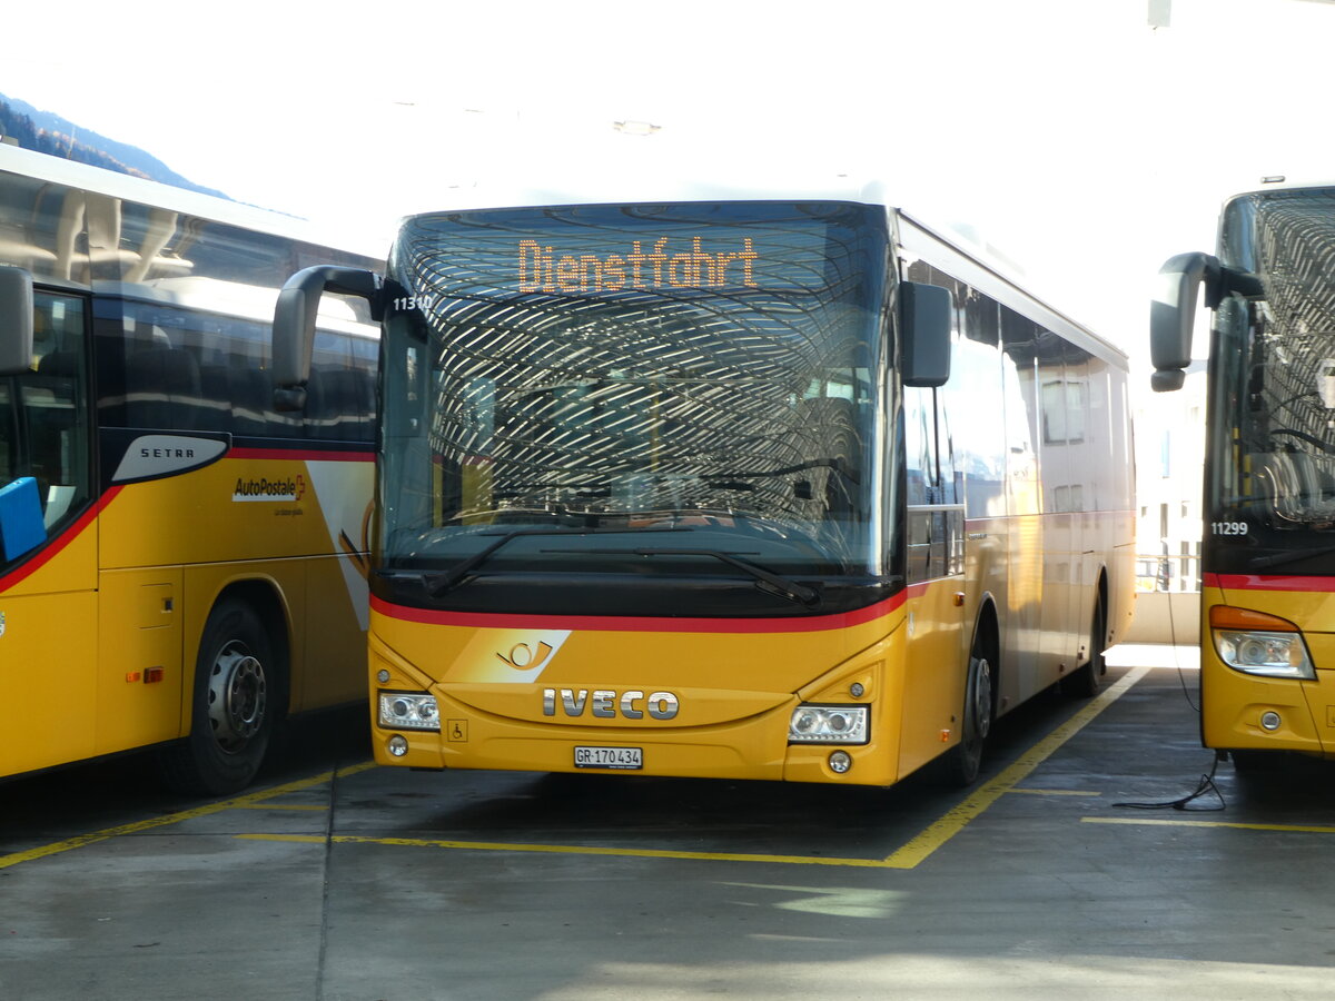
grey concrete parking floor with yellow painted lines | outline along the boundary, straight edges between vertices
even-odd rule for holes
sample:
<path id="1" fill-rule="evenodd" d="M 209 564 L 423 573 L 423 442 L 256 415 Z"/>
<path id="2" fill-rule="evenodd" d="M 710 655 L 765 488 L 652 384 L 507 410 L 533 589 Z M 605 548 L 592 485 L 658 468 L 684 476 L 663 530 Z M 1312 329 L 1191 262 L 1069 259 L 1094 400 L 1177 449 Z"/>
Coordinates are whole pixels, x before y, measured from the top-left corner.
<path id="1" fill-rule="evenodd" d="M 227 801 L 12 782 L 0 998 L 1328 997 L 1335 766 L 1167 806 L 1214 762 L 1163 653 L 965 793 L 378 769 L 359 714 Z"/>

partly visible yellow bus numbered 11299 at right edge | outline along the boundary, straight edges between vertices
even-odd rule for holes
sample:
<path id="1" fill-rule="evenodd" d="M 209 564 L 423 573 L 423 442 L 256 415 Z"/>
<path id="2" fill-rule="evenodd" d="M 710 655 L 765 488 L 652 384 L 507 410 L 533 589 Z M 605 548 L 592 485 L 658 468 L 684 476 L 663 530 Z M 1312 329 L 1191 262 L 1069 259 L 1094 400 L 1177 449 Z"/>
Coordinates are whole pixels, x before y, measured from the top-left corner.
<path id="1" fill-rule="evenodd" d="M 1152 304 L 1153 387 L 1183 386 L 1200 291 L 1207 367 L 1200 721 L 1247 769 L 1335 758 L 1335 187 L 1230 199 L 1218 256 Z"/>

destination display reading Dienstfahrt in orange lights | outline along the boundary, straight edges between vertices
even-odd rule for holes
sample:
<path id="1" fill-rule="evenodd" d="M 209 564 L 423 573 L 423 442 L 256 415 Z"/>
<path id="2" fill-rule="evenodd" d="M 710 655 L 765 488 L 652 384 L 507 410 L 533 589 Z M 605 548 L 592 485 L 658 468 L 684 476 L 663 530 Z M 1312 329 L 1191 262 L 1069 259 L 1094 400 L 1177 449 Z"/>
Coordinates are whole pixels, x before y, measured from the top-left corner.
<path id="1" fill-rule="evenodd" d="M 467 295 L 841 295 L 880 243 L 862 207 L 832 203 L 489 210 L 409 226 L 405 287 L 426 311 Z"/>

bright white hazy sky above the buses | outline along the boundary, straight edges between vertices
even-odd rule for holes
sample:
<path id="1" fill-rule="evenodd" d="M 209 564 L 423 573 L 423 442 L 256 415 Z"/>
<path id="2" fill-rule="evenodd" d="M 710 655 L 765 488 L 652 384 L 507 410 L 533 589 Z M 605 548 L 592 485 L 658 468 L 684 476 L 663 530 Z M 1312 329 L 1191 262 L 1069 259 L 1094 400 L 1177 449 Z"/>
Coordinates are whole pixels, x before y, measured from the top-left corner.
<path id="1" fill-rule="evenodd" d="M 24 4 L 0 93 L 375 246 L 402 212 L 498 176 L 876 174 L 1143 355 L 1153 272 L 1208 248 L 1224 195 L 1335 174 L 1335 4 L 1171 0 L 1159 28 L 1149 8 Z M 626 120 L 659 128 L 613 129 Z"/>

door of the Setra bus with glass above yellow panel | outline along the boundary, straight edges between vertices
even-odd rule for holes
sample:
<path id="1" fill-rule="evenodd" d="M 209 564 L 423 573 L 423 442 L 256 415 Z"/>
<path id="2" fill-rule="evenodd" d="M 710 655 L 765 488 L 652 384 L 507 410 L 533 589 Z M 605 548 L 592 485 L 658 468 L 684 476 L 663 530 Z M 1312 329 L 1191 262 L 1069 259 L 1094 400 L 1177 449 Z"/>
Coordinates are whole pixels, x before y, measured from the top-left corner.
<path id="1" fill-rule="evenodd" d="M 0 378 L 0 774 L 85 758 L 95 739 L 88 308 L 41 290 L 33 304 L 35 370 Z"/>

